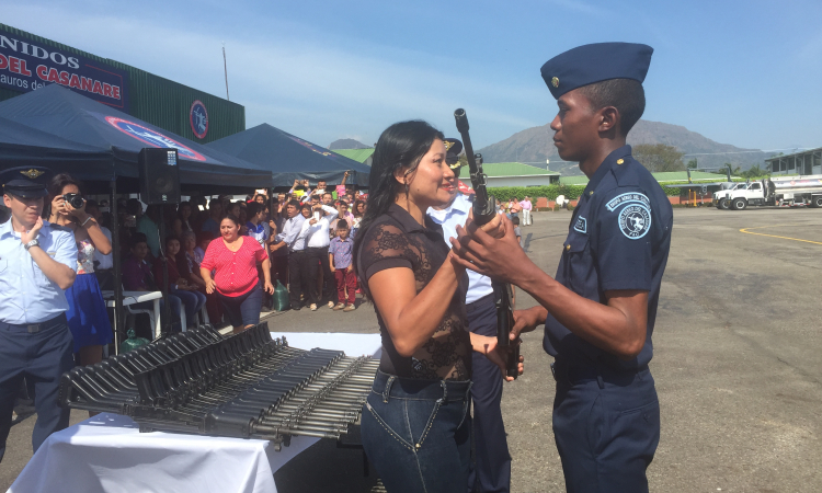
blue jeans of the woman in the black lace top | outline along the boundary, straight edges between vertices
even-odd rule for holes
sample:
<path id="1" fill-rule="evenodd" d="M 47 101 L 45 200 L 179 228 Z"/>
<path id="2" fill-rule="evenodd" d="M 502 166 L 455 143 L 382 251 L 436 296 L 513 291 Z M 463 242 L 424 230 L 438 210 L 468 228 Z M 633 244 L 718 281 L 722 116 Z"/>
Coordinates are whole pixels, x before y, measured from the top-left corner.
<path id="1" fill-rule="evenodd" d="M 363 447 L 391 493 L 466 490 L 470 381 L 414 380 L 377 371 L 363 409 Z"/>

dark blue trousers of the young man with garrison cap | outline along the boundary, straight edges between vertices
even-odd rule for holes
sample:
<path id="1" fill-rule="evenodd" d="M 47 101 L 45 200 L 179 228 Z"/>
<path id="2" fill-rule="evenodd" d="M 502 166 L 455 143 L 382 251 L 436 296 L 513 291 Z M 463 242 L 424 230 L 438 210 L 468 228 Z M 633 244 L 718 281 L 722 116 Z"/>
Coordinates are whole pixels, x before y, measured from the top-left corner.
<path id="1" fill-rule="evenodd" d="M 553 365 L 553 436 L 569 493 L 647 492 L 660 442 L 651 371 Z"/>

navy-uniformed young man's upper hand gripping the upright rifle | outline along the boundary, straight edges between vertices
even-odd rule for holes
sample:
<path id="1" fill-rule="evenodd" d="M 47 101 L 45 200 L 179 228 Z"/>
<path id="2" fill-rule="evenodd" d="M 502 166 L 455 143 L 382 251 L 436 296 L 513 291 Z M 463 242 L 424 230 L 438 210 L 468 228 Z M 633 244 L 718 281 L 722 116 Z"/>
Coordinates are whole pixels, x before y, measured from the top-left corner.
<path id="1" fill-rule="evenodd" d="M 514 285 L 533 270 L 539 271 L 520 246 L 514 225 L 504 215 L 498 214 L 481 229 L 469 216 L 465 228 L 457 226 L 457 236 L 452 238 L 450 255 L 466 268 Z"/>

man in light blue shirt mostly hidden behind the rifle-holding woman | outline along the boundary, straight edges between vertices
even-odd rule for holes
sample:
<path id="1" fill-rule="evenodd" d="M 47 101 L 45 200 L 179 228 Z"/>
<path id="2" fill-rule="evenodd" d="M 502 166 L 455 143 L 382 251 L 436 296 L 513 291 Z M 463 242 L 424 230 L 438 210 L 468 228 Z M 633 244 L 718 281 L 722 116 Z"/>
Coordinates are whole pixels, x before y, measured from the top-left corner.
<path id="1" fill-rule="evenodd" d="M 459 153 L 463 142 L 445 139 L 445 161 L 459 177 Z M 442 225 L 443 237 L 450 248 L 449 238 L 457 238 L 457 225 L 465 225 L 473 203 L 456 192 L 452 203 L 442 209 L 429 208 L 427 215 Z M 491 278 L 468 272 L 466 313 L 468 330 L 476 334 L 496 336 L 496 307 Z M 476 457 L 468 475 L 469 492 L 507 492 L 511 488 L 511 455 L 502 422 L 502 376 L 500 368 L 484 355 L 475 352 L 471 374 L 473 401 L 473 440 Z"/>

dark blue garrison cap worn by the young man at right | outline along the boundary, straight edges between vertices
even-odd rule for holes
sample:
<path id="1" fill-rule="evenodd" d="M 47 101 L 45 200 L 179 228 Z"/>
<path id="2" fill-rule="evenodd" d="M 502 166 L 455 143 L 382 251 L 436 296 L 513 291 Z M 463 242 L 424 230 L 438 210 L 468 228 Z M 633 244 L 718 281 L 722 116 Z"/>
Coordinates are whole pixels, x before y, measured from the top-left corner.
<path id="1" fill-rule="evenodd" d="M 636 43 L 582 45 L 546 61 L 540 72 L 555 99 L 609 79 L 646 80 L 653 48 Z"/>

